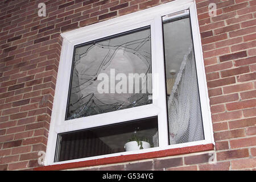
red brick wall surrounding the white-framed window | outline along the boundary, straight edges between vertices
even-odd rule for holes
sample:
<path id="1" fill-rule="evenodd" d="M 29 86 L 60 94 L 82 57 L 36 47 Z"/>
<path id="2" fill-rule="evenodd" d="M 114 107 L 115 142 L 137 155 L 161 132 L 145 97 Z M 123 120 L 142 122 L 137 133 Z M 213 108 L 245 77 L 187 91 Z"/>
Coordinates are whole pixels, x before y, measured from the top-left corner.
<path id="1" fill-rule="evenodd" d="M 179 0 L 176 0 L 179 1 Z M 46 17 L 38 3 L 46 3 Z M 168 1 L 0 2 L 0 170 L 38 167 L 45 151 L 60 33 Z M 209 152 L 92 169 L 256 168 L 256 1 L 197 0 L 217 163 Z M 208 5 L 217 4 L 210 17 Z"/>

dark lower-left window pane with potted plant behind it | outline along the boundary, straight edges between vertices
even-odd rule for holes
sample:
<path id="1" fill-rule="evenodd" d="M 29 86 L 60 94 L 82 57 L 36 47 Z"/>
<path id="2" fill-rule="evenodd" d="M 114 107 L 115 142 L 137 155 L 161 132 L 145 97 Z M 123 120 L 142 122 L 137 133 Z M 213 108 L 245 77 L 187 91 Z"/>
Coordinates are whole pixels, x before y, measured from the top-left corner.
<path id="1" fill-rule="evenodd" d="M 58 135 L 55 162 L 158 147 L 158 118 L 143 118 Z"/>

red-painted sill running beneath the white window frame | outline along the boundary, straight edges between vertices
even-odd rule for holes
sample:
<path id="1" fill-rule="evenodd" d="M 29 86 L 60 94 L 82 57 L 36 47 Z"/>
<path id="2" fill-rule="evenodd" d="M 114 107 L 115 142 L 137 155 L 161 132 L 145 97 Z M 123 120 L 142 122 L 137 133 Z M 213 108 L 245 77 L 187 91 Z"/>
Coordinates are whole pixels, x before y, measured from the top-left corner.
<path id="1" fill-rule="evenodd" d="M 34 168 L 34 171 L 57 171 L 57 170 L 64 170 L 64 169 L 101 166 L 106 164 L 117 164 L 117 163 L 131 162 L 136 160 L 163 158 L 166 156 L 192 154 L 195 152 L 204 152 L 204 151 L 210 151 L 210 150 L 214 150 L 214 145 L 212 143 L 202 144 L 198 146 L 182 147 L 182 148 L 171 148 L 168 150 L 147 152 L 143 154 L 122 155 L 122 156 L 114 156 L 114 157 L 102 158 L 102 159 L 85 160 L 81 162 L 42 166 L 42 167 Z"/>

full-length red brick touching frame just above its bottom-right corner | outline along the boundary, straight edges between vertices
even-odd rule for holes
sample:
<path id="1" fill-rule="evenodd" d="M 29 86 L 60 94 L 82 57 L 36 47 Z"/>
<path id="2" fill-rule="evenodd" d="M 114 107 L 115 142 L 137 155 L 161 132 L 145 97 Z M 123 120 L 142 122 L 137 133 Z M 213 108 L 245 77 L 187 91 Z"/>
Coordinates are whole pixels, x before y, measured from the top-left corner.
<path id="1" fill-rule="evenodd" d="M 220 131 L 218 133 L 214 133 L 214 139 L 216 141 L 238 138 L 238 137 L 245 137 L 245 130 L 237 129 L 237 130 Z"/>

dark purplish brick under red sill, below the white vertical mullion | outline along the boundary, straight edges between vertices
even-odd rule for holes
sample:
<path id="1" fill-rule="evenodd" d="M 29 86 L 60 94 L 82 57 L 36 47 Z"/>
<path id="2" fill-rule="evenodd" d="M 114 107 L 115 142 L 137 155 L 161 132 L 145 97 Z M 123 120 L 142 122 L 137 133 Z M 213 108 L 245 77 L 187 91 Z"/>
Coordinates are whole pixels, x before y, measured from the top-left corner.
<path id="1" fill-rule="evenodd" d="M 182 158 L 159 159 L 154 160 L 154 169 L 170 168 L 182 166 Z"/>

